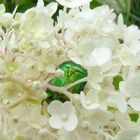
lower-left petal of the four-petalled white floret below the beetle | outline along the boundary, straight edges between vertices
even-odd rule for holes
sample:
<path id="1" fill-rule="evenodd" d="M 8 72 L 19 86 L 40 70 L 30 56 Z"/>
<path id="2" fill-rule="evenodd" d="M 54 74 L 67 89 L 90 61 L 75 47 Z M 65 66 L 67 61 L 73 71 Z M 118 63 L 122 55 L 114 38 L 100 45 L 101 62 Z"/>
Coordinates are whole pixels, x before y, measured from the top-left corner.
<path id="1" fill-rule="evenodd" d="M 63 121 L 60 119 L 58 115 L 53 115 L 49 119 L 49 124 L 52 128 L 61 129 L 63 127 Z"/>

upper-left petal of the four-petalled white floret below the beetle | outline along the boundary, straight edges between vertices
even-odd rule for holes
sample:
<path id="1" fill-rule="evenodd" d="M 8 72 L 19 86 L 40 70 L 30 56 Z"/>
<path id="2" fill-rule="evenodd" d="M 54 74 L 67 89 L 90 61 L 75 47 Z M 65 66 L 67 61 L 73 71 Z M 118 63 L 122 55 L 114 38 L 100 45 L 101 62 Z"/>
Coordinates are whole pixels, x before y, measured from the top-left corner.
<path id="1" fill-rule="evenodd" d="M 61 113 L 63 113 L 64 108 L 62 102 L 56 100 L 48 105 L 47 110 L 51 115 L 61 115 Z"/>

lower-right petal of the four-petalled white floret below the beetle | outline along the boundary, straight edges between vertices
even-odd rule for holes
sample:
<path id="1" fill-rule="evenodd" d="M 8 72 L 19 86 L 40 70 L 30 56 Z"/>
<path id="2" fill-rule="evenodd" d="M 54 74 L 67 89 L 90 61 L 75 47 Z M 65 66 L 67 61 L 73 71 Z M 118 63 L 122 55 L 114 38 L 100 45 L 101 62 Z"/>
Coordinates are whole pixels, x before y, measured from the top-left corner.
<path id="1" fill-rule="evenodd" d="M 69 120 L 65 122 L 64 128 L 67 131 L 72 131 L 76 128 L 77 124 L 78 124 L 77 116 L 73 114 L 70 116 Z"/>

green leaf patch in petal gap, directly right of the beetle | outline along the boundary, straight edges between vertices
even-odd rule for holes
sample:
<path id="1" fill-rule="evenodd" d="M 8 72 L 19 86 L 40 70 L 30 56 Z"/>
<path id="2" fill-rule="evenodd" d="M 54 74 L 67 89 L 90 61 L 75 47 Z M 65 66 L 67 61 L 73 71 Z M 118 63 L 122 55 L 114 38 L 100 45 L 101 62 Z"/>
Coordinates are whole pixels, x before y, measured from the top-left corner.
<path id="1" fill-rule="evenodd" d="M 122 76 L 120 76 L 120 75 L 116 75 L 116 76 L 113 78 L 112 84 L 113 84 L 115 90 L 119 90 L 119 83 L 120 83 L 121 81 L 123 81 L 123 78 L 122 78 Z"/>

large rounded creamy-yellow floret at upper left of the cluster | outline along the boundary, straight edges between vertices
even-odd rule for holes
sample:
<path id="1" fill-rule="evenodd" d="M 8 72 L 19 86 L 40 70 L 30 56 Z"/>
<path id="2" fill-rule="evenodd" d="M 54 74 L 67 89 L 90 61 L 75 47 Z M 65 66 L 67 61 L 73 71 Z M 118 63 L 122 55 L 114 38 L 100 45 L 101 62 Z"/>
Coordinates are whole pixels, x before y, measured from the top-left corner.
<path id="1" fill-rule="evenodd" d="M 45 40 L 45 37 L 53 31 L 52 19 L 43 12 L 37 13 L 35 10 L 28 10 L 17 17 L 17 22 L 20 23 L 19 33 L 26 36 L 27 39 L 33 37 L 32 41 Z M 48 46 L 47 43 L 46 46 Z"/>

